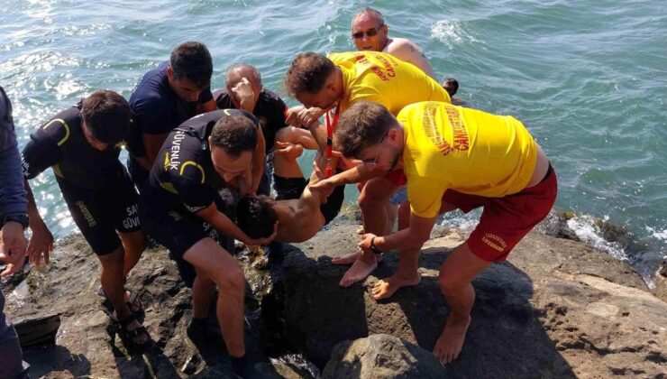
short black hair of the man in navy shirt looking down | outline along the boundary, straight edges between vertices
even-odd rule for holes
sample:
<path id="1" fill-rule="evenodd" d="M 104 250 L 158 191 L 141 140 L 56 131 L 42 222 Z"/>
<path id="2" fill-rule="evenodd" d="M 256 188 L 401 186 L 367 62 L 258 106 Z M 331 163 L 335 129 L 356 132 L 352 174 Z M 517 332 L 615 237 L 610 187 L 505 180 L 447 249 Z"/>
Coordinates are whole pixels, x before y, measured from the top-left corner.
<path id="1" fill-rule="evenodd" d="M 201 42 L 184 42 L 171 51 L 169 66 L 176 79 L 187 79 L 199 88 L 211 85 L 213 60 L 206 45 Z"/>

